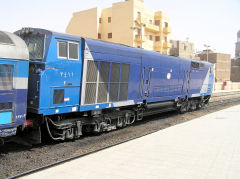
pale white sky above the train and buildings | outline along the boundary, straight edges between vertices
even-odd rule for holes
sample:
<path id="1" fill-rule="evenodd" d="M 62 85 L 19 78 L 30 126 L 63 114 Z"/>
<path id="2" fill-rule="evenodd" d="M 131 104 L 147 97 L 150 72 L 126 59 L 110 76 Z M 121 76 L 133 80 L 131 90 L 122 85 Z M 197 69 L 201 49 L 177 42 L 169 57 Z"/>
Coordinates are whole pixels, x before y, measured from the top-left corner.
<path id="1" fill-rule="evenodd" d="M 14 32 L 38 27 L 65 32 L 73 12 L 111 7 L 123 0 L 0 0 L 0 30 Z M 216 52 L 235 55 L 240 30 L 240 0 L 145 0 L 145 7 L 169 14 L 170 39 L 210 45 Z"/>

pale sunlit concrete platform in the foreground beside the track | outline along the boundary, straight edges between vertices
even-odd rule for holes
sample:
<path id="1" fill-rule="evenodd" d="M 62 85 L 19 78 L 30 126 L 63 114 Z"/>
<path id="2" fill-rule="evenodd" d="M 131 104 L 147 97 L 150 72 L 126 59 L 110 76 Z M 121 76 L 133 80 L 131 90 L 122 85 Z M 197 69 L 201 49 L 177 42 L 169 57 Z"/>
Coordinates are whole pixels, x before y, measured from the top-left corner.
<path id="1" fill-rule="evenodd" d="M 239 179 L 240 105 L 24 178 Z"/>

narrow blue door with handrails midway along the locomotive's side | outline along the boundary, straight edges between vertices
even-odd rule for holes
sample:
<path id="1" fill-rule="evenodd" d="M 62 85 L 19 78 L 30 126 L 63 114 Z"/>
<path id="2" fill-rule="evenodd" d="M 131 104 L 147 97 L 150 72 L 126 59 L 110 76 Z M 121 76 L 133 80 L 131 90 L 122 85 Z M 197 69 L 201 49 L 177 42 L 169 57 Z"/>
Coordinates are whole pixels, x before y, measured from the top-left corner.
<path id="1" fill-rule="evenodd" d="M 141 80 L 141 97 L 146 99 L 150 95 L 151 67 L 143 67 Z"/>

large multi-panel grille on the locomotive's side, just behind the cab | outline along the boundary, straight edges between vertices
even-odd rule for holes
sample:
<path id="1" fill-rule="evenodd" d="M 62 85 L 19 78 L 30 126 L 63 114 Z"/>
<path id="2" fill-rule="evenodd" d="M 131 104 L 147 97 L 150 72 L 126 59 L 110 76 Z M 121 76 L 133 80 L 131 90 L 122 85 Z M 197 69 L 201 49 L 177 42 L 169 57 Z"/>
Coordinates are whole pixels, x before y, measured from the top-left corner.
<path id="1" fill-rule="evenodd" d="M 129 64 L 88 60 L 84 104 L 127 100 L 129 70 Z"/>

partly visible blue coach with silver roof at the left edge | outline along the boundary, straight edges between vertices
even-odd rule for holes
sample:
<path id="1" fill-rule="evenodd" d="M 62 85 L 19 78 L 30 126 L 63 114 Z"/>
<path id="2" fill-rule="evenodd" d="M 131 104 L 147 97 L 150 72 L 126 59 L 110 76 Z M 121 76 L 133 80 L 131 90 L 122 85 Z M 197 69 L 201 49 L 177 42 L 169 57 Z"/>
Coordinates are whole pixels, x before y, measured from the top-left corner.
<path id="1" fill-rule="evenodd" d="M 23 130 L 26 121 L 28 48 L 17 35 L 0 31 L 0 140 Z"/>

